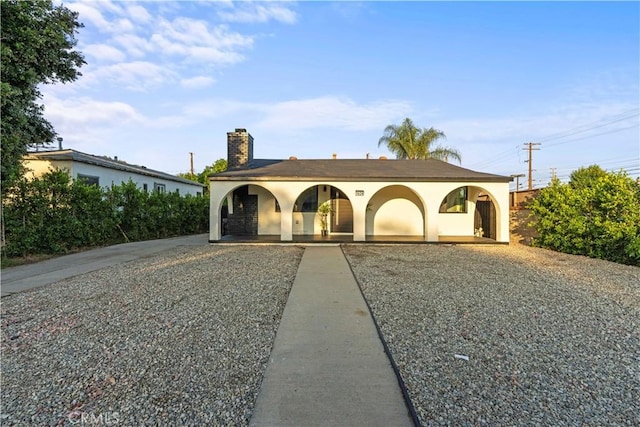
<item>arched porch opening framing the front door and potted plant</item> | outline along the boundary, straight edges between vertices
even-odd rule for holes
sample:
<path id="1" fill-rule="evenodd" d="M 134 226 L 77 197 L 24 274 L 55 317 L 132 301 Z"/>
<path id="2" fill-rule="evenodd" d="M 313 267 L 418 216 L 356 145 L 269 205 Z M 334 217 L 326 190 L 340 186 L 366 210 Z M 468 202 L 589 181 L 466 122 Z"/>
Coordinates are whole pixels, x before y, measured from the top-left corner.
<path id="1" fill-rule="evenodd" d="M 318 208 L 324 203 L 330 212 L 323 216 Z M 325 205 L 326 206 L 326 205 Z M 326 229 L 327 234 L 353 233 L 353 208 L 344 192 L 332 185 L 319 184 L 305 189 L 293 205 L 293 235 L 319 235 Z"/>

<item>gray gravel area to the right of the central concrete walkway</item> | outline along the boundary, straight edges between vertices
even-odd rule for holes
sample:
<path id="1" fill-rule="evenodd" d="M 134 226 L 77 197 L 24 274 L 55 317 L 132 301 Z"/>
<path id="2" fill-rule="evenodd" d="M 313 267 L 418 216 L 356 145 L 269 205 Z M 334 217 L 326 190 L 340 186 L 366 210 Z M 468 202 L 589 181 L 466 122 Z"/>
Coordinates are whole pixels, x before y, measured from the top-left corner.
<path id="1" fill-rule="evenodd" d="M 521 245 L 344 250 L 423 425 L 640 425 L 640 268 Z"/>

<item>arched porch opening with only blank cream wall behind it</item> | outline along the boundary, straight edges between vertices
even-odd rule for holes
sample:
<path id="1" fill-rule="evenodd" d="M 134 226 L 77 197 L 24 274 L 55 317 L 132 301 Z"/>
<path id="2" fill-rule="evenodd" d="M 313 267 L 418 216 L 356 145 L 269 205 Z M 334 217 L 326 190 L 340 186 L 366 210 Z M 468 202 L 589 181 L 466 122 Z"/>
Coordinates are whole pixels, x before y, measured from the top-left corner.
<path id="1" fill-rule="evenodd" d="M 378 190 L 367 204 L 367 236 L 425 235 L 424 203 L 412 189 L 390 185 Z"/>

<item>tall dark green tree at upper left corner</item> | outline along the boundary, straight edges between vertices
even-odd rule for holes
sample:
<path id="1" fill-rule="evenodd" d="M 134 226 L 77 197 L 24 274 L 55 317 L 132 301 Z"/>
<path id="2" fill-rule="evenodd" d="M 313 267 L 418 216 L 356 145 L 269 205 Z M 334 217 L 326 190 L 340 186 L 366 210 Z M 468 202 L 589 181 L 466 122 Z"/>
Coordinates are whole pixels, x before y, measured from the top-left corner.
<path id="1" fill-rule="evenodd" d="M 68 83 L 85 63 L 74 51 L 82 24 L 78 14 L 50 0 L 4 0 L 0 5 L 2 76 L 2 192 L 22 174 L 28 147 L 53 142 L 56 132 L 43 116 L 41 84 Z"/>

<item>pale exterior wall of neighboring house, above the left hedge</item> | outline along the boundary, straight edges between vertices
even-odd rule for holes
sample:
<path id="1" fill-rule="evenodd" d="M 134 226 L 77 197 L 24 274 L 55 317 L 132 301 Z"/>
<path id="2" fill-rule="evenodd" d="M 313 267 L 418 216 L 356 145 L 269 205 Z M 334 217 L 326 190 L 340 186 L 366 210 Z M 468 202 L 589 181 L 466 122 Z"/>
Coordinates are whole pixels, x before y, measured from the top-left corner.
<path id="1" fill-rule="evenodd" d="M 33 171 L 35 176 L 41 176 L 51 168 L 66 169 L 73 179 L 77 179 L 78 175 L 88 175 L 99 177 L 99 185 L 103 188 L 109 188 L 112 184 L 120 185 L 131 179 L 136 183 L 138 188 L 143 188 L 143 184 L 147 184 L 147 189 L 153 191 L 154 184 L 163 184 L 165 191 L 168 193 L 178 191 L 180 195 L 191 194 L 193 196 L 202 195 L 202 187 L 199 185 L 183 184 L 168 179 L 140 175 L 136 173 L 121 171 L 117 169 L 105 168 L 97 165 L 73 162 L 70 160 L 27 160 L 25 166 Z"/>

